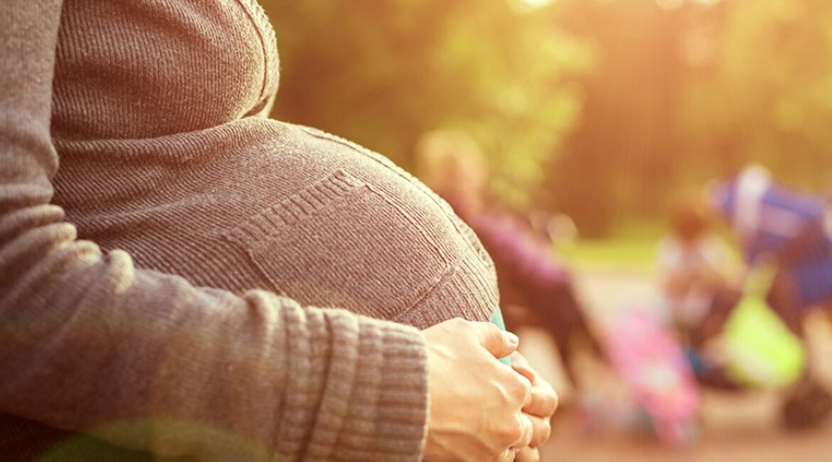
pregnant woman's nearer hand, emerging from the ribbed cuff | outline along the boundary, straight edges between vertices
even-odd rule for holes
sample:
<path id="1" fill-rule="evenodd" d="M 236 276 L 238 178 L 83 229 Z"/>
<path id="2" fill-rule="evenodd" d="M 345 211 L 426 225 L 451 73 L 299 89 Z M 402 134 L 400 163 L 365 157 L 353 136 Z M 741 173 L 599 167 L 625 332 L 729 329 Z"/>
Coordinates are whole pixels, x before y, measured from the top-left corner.
<path id="1" fill-rule="evenodd" d="M 423 331 L 428 345 L 430 417 L 425 460 L 508 460 L 527 447 L 531 381 L 496 358 L 518 338 L 488 322 L 452 319 Z"/>

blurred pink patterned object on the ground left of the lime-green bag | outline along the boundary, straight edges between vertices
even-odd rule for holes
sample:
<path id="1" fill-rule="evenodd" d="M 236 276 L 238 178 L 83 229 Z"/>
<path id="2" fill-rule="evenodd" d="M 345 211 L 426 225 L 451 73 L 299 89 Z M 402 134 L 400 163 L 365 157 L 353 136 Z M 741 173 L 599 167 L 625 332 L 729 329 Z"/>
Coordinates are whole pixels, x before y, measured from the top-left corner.
<path id="1" fill-rule="evenodd" d="M 680 343 L 646 310 L 622 312 L 609 332 L 612 365 L 668 445 L 685 445 L 696 432 L 699 387 Z"/>

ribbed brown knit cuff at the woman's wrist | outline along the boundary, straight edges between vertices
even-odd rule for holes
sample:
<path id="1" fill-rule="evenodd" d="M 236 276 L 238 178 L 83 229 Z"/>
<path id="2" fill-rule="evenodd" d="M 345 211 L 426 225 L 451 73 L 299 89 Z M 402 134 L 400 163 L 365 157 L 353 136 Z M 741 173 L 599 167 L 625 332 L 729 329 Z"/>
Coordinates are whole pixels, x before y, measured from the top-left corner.
<path id="1" fill-rule="evenodd" d="M 428 424 L 424 338 L 414 327 L 349 317 L 357 322 L 358 336 L 351 339 L 357 348 L 333 345 L 328 390 L 319 407 L 319 415 L 340 415 L 340 425 L 316 425 L 305 459 L 418 461 Z M 353 380 L 331 380 L 341 374 Z"/>

